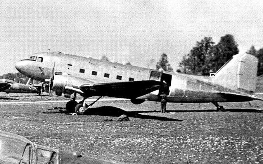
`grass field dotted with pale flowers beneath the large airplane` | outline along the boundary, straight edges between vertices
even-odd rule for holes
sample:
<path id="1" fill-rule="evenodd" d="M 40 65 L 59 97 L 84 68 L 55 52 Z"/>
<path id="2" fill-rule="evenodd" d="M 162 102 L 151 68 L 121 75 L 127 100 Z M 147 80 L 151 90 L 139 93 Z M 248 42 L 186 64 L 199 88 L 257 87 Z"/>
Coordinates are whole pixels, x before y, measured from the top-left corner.
<path id="1" fill-rule="evenodd" d="M 0 97 L 0 102 L 40 100 Z M 48 110 L 65 103 L 0 104 L 0 130 L 117 163 L 263 163 L 263 102 L 220 105 L 227 111 L 216 112 L 211 103 L 168 103 L 161 114 L 155 102 L 105 101 L 92 106 L 91 115 L 71 116 Z M 117 122 L 122 114 L 130 121 Z"/>

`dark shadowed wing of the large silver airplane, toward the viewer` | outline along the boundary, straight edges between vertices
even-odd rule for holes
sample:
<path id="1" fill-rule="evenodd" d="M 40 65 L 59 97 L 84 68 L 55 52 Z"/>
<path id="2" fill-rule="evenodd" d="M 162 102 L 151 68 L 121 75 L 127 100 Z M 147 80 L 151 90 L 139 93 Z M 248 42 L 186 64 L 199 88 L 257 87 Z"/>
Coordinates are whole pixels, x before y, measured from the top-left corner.
<path id="1" fill-rule="evenodd" d="M 160 81 L 147 80 L 88 84 L 81 85 L 79 88 L 84 95 L 132 99 L 158 90 L 160 85 Z"/>

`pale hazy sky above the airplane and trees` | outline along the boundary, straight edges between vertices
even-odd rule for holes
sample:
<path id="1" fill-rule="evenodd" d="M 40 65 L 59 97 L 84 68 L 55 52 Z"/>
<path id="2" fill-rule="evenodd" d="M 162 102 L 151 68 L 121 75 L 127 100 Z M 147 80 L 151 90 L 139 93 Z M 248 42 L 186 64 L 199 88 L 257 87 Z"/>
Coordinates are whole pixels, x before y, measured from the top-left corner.
<path id="1" fill-rule="evenodd" d="M 263 1 L 0 0 L 0 75 L 36 52 L 60 51 L 174 70 L 197 41 L 231 34 L 246 52 L 263 47 Z M 154 60 L 153 60 L 154 59 Z M 153 61 L 153 62 L 150 62 Z"/>

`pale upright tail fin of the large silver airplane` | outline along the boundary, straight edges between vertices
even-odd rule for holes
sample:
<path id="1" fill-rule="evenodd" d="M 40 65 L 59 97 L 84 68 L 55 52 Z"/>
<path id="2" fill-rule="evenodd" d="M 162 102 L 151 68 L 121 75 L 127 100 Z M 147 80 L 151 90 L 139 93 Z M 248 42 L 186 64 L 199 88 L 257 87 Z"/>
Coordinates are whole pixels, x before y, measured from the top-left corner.
<path id="1" fill-rule="evenodd" d="M 213 77 L 213 83 L 229 89 L 253 93 L 256 89 L 257 57 L 236 54 Z"/>

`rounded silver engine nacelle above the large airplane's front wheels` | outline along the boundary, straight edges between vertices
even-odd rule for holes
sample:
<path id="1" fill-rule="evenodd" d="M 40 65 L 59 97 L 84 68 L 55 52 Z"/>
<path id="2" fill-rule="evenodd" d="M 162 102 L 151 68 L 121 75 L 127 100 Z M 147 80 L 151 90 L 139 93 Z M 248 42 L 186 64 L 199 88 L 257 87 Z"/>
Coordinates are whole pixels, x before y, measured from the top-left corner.
<path id="1" fill-rule="evenodd" d="M 58 93 L 57 95 L 64 93 L 66 98 L 70 98 L 70 95 L 74 92 L 83 93 L 78 87 L 82 84 L 90 84 L 90 81 L 68 74 L 55 75 L 52 90 L 55 91 L 56 94 Z"/>

